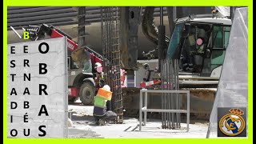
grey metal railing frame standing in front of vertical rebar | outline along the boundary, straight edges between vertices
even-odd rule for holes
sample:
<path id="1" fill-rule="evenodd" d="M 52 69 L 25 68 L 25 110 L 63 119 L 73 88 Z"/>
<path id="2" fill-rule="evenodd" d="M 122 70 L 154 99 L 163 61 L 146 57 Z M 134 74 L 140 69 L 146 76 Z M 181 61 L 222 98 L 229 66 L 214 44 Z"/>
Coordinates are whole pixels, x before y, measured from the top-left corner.
<path id="1" fill-rule="evenodd" d="M 186 110 L 161 110 L 161 109 L 147 109 L 147 94 L 148 93 L 183 93 L 187 96 Z M 143 94 L 145 94 L 144 106 L 143 106 Z M 162 94 L 159 94 L 162 96 Z M 144 126 L 146 126 L 146 113 L 147 112 L 159 112 L 159 113 L 186 113 L 186 131 L 189 131 L 190 125 L 190 90 L 140 90 L 139 97 L 139 130 L 142 130 L 142 112 L 144 112 Z"/>

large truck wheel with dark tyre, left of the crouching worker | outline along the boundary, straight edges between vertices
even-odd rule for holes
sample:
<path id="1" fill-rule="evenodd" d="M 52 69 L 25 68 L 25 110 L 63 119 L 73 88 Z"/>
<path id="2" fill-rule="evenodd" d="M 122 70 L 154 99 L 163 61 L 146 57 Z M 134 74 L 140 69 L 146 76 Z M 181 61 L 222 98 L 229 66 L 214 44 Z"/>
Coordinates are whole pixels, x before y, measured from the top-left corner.
<path id="1" fill-rule="evenodd" d="M 84 82 L 80 87 L 79 97 L 86 106 L 93 105 L 95 96 L 95 88 L 90 82 Z"/>

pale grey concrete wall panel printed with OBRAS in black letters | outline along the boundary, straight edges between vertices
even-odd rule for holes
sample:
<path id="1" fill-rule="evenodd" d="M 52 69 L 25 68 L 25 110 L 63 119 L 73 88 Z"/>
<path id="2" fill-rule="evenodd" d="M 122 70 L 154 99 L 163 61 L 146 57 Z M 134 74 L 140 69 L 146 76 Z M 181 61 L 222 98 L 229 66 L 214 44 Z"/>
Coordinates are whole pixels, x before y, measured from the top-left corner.
<path id="1" fill-rule="evenodd" d="M 42 42 L 49 45 L 46 54 L 41 54 L 38 50 Z M 11 54 L 11 46 L 15 46 L 15 54 Z M 23 52 L 23 46 L 27 46 L 28 53 Z M 46 50 L 46 46 L 42 46 L 42 50 Z M 25 60 L 29 60 L 27 62 L 29 66 L 24 66 Z M 11 61 L 15 66 L 10 63 Z M 47 65 L 46 74 L 39 74 L 39 63 Z M 68 102 L 66 66 L 66 38 L 8 45 L 8 137 L 63 138 L 66 136 Z M 10 74 L 16 75 L 12 78 Z M 24 74 L 27 77 L 30 74 L 30 79 L 25 78 Z M 46 88 L 46 93 L 40 94 L 42 84 L 47 86 L 42 86 Z M 16 102 L 17 108 L 11 102 Z M 40 111 L 41 115 L 39 115 Z M 38 136 L 43 134 L 39 126 L 46 126 L 42 127 L 46 135 Z M 24 129 L 30 129 L 29 136 L 24 136 Z M 10 135 L 11 131 L 12 134 L 16 134 L 14 130 L 18 132 L 16 137 Z"/>

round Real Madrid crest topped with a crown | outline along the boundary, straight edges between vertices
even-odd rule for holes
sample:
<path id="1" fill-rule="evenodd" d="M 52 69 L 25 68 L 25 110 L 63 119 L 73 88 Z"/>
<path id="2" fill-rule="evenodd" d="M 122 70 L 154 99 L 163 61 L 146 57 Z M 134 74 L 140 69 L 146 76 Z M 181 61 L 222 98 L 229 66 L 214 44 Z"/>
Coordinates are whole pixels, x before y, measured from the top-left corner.
<path id="1" fill-rule="evenodd" d="M 227 136 L 237 136 L 245 130 L 246 122 L 242 115 L 243 110 L 240 109 L 230 109 L 230 114 L 225 114 L 220 118 L 218 128 L 223 134 Z"/>

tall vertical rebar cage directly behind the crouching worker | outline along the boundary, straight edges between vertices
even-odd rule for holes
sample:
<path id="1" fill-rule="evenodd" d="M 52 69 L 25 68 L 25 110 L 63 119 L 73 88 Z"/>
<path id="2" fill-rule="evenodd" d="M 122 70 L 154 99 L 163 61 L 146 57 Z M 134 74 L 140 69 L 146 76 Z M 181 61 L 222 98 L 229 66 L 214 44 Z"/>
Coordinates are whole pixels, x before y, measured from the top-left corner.
<path id="1" fill-rule="evenodd" d="M 113 92 L 111 106 L 118 117 L 116 123 L 122 123 L 121 58 L 119 49 L 120 18 L 118 7 L 102 7 L 102 50 L 105 84 Z"/>

